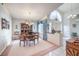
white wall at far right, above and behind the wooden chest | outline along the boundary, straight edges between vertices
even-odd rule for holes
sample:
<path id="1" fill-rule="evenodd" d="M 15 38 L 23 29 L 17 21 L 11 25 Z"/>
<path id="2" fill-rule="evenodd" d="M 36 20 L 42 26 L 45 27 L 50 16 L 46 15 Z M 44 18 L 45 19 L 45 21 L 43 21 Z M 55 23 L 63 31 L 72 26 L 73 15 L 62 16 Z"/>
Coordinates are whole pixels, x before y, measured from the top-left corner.
<path id="1" fill-rule="evenodd" d="M 74 9 L 72 12 L 69 11 L 67 13 L 64 13 L 64 15 L 63 15 L 63 30 L 64 30 L 64 38 L 66 38 L 66 40 L 71 38 L 72 32 L 76 31 L 77 33 L 79 33 L 78 28 L 76 29 L 76 28 L 72 27 L 72 24 L 75 22 L 74 21 L 75 19 L 73 19 L 73 21 L 72 21 L 72 19 L 67 18 L 71 14 L 73 14 L 73 15 L 79 14 L 79 8 Z M 78 22 L 77 22 L 77 24 L 78 24 Z"/>

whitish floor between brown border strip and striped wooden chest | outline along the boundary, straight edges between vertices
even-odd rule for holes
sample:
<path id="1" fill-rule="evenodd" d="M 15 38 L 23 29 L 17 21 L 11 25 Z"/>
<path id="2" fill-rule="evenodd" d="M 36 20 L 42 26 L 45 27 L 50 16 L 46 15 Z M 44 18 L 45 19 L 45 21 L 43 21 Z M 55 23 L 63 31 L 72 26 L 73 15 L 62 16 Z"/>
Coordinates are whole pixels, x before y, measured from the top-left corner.
<path id="1" fill-rule="evenodd" d="M 45 56 L 66 56 L 66 41 L 63 39 L 63 45 L 61 47 L 49 52 Z"/>

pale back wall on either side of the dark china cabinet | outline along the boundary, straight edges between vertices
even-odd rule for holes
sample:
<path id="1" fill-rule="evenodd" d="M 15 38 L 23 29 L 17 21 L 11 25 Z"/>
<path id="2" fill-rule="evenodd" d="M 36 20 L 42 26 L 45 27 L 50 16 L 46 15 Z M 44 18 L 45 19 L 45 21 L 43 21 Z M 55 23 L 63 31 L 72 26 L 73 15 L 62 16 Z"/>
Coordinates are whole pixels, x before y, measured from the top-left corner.
<path id="1" fill-rule="evenodd" d="M 26 20 L 22 20 L 22 19 L 12 19 L 12 33 L 14 34 L 14 32 L 18 31 L 19 34 L 21 33 L 21 23 L 26 23 Z M 16 25 L 18 27 L 18 29 L 16 29 Z M 33 23 L 33 31 L 37 32 L 37 23 Z"/>

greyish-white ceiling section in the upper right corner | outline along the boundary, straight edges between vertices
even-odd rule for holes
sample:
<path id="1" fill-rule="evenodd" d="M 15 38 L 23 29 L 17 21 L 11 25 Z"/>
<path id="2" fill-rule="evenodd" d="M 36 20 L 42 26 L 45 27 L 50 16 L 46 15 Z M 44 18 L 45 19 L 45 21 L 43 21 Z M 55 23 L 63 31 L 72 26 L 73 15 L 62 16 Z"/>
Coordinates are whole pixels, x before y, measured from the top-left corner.
<path id="1" fill-rule="evenodd" d="M 79 3 L 65 3 L 61 5 L 58 10 L 61 11 L 62 13 L 68 13 L 71 10 L 76 10 L 79 8 Z"/>

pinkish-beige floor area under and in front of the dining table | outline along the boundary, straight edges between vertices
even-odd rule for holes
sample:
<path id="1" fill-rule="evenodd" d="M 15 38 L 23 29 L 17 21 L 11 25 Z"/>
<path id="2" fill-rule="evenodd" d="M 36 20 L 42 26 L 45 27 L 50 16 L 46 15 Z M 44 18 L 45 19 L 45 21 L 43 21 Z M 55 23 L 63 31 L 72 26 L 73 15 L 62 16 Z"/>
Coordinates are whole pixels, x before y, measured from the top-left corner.
<path id="1" fill-rule="evenodd" d="M 39 44 L 36 44 L 35 46 L 19 46 L 19 41 L 16 40 L 12 43 L 12 47 L 8 53 L 8 56 L 31 56 L 35 55 L 41 52 L 45 51 L 46 49 L 49 49 L 50 47 L 53 47 L 56 49 L 56 46 L 54 44 L 48 43 L 44 40 L 40 40 Z M 42 52 L 41 52 L 42 53 Z"/>

